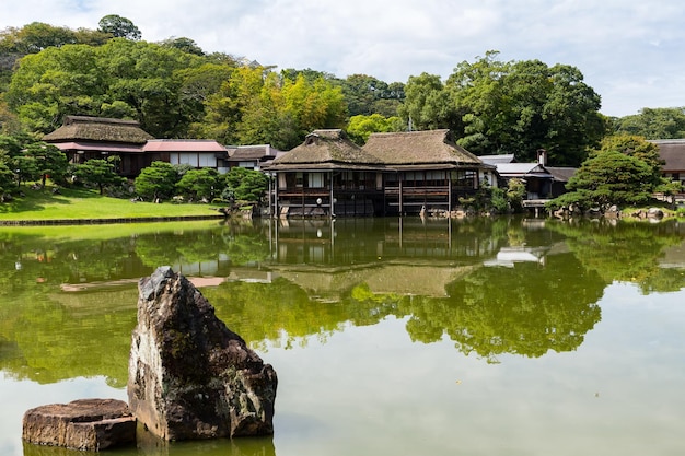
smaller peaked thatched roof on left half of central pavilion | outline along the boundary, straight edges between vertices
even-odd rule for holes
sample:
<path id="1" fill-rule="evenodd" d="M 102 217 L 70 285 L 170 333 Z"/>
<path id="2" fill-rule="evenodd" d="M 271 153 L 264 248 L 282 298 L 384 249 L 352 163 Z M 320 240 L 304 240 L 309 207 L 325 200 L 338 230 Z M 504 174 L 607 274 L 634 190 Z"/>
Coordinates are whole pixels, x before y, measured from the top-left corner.
<path id="1" fill-rule="evenodd" d="M 363 168 L 370 165 L 378 168 L 381 164 L 379 159 L 365 153 L 350 141 L 345 131 L 330 129 L 314 130 L 306 136 L 302 144 L 274 160 L 269 169 Z"/>

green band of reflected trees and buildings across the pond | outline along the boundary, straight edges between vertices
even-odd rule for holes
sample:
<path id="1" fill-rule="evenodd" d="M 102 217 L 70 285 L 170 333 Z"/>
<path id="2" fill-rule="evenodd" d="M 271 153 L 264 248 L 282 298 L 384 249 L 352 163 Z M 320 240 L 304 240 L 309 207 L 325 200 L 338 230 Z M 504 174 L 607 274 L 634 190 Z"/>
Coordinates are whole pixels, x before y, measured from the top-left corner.
<path id="1" fill-rule="evenodd" d="M 264 350 L 394 316 L 417 342 L 446 336 L 489 362 L 536 358 L 576 350 L 614 281 L 684 288 L 682 245 L 677 223 L 508 218 L 3 230 L 0 369 L 123 387 L 136 282 L 159 265 L 197 280 L 219 317 Z"/>

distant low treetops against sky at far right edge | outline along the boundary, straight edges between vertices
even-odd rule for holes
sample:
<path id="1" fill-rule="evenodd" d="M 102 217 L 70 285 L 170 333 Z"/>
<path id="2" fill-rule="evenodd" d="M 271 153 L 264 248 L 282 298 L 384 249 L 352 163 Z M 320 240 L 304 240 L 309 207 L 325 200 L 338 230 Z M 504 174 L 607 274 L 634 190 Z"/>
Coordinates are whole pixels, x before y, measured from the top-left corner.
<path id="1" fill-rule="evenodd" d="M 685 107 L 643 108 L 615 121 L 615 132 L 646 139 L 685 138 Z"/>

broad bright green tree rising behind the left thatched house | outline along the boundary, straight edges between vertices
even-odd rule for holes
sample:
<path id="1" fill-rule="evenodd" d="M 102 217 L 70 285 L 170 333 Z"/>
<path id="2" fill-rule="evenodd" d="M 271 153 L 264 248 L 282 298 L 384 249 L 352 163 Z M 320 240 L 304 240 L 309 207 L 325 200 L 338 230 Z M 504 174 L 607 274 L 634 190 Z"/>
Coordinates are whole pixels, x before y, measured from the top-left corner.
<path id="1" fill-rule="evenodd" d="M 205 59 L 123 38 L 100 47 L 68 45 L 26 56 L 5 94 L 31 131 L 48 133 L 66 115 L 132 117 L 158 138 L 184 136 L 204 105 L 183 96 L 183 74 Z"/>

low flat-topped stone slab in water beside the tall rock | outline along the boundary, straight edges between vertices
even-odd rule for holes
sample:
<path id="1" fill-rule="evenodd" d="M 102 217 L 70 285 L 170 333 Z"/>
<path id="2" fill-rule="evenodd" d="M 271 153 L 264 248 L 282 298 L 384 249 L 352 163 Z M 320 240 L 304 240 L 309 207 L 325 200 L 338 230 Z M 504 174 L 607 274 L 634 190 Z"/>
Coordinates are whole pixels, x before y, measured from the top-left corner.
<path id="1" fill-rule="evenodd" d="M 38 445 L 100 449 L 136 443 L 136 417 L 116 399 L 79 399 L 24 413 L 22 439 Z"/>

